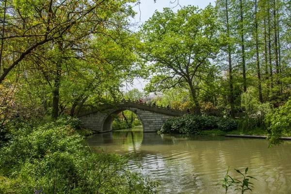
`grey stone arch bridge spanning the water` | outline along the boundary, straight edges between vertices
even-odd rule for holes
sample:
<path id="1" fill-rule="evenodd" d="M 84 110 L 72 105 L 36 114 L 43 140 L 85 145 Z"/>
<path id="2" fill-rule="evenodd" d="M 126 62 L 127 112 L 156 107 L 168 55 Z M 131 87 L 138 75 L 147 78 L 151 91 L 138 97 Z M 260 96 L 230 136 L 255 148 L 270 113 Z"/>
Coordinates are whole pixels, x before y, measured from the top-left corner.
<path id="1" fill-rule="evenodd" d="M 123 100 L 115 107 L 104 106 L 99 110 L 82 111 L 78 118 L 82 121 L 84 128 L 107 132 L 112 130 L 114 115 L 125 110 L 137 115 L 142 122 L 144 132 L 155 132 L 162 128 L 168 118 L 182 116 L 187 113 L 171 108 L 167 109 L 161 106 Z"/>

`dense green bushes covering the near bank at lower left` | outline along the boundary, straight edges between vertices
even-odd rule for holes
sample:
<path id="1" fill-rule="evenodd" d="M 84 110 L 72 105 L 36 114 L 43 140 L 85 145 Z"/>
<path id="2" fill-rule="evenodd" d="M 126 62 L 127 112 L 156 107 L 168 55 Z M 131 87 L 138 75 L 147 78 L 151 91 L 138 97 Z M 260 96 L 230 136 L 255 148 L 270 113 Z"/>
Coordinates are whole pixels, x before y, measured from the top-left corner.
<path id="1" fill-rule="evenodd" d="M 11 129 L 0 148 L 0 194 L 147 194 L 157 182 L 129 170 L 127 158 L 84 146 L 78 119 Z"/>

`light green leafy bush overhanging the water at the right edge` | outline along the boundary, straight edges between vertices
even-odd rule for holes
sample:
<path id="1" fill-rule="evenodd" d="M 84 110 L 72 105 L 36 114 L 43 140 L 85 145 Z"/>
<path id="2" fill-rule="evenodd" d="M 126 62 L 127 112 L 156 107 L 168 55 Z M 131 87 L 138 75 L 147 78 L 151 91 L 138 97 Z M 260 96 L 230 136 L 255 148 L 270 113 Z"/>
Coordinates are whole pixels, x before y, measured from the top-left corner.
<path id="1" fill-rule="evenodd" d="M 291 99 L 283 106 L 275 109 L 274 113 L 269 113 L 265 121 L 269 124 L 270 146 L 278 145 L 283 142 L 280 138 L 285 133 L 291 133 Z"/>

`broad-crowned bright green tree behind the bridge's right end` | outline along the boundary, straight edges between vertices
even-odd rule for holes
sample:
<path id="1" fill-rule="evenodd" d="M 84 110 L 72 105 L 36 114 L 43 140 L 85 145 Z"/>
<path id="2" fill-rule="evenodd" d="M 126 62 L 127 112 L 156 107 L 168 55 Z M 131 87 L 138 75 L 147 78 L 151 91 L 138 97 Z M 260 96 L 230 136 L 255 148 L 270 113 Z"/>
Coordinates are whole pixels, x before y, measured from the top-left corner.
<path id="1" fill-rule="evenodd" d="M 156 11 L 140 31 L 139 52 L 151 62 L 148 70 L 153 75 L 145 90 L 187 87 L 200 114 L 198 85 L 219 50 L 217 31 L 216 11 L 211 5 L 204 10 L 187 6 L 177 13 L 169 8 Z"/>

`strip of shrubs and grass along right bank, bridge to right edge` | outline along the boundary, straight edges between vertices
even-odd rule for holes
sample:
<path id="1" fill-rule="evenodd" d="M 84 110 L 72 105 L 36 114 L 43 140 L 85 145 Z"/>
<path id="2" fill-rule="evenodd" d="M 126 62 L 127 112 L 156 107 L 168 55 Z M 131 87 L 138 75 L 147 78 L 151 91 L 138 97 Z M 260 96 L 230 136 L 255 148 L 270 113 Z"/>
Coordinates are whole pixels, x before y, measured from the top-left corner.
<path id="1" fill-rule="evenodd" d="M 284 109 L 290 104 L 287 103 L 285 106 L 267 115 L 245 116 L 238 119 L 186 114 L 168 119 L 158 133 L 257 137 L 269 140 L 270 146 L 277 145 L 283 140 L 291 140 L 288 120 L 282 123 L 282 119 L 278 117 L 278 115 L 285 117 L 288 114 Z"/>

